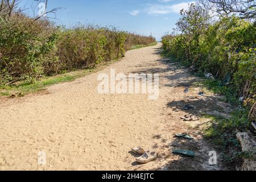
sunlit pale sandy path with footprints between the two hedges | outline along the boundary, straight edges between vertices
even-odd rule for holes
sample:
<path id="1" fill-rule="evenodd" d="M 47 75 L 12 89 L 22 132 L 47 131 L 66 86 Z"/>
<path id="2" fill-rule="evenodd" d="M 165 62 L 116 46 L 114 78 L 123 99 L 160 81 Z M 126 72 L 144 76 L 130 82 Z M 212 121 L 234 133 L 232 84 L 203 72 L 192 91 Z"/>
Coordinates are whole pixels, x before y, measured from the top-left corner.
<path id="1" fill-rule="evenodd" d="M 158 100 L 148 100 L 147 94 L 98 94 L 98 73 L 92 73 L 53 85 L 49 94 L 0 104 L 0 169 L 136 170 L 179 160 L 169 154 L 176 140 L 172 136 L 190 130 L 179 118 L 186 113 L 175 110 L 170 102 L 184 100 L 188 95 L 179 84 L 194 78 L 159 61 L 159 48 L 160 44 L 129 51 L 121 61 L 98 72 L 114 68 L 118 73 L 159 73 Z M 190 144 L 197 152 L 207 151 L 200 133 L 191 131 L 197 143 Z M 159 152 L 160 158 L 138 165 L 129 153 L 133 146 Z M 44 166 L 38 165 L 39 151 L 46 152 Z M 189 169 L 218 169 L 207 163 L 205 156 Z M 180 166 L 184 169 L 181 164 L 174 169 Z"/>

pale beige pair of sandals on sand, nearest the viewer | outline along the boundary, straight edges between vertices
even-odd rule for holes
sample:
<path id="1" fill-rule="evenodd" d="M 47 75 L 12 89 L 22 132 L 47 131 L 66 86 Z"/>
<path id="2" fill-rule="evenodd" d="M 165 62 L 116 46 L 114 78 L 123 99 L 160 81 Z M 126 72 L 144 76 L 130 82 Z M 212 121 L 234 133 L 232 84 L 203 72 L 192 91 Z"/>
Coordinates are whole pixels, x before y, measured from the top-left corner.
<path id="1" fill-rule="evenodd" d="M 155 152 L 144 151 L 142 147 L 131 148 L 131 151 L 133 151 L 134 154 L 142 155 L 136 158 L 137 163 L 146 164 L 158 158 L 158 155 Z"/>

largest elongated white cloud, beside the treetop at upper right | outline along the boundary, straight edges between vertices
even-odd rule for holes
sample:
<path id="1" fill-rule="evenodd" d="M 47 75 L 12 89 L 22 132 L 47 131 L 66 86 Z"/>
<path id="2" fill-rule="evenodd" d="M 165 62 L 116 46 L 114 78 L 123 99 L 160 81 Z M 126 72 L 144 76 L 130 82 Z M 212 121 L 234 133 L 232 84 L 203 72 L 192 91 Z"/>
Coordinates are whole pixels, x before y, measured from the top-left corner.
<path id="1" fill-rule="evenodd" d="M 168 1 L 168 0 L 161 0 Z M 195 2 L 183 2 L 176 5 L 149 5 L 145 11 L 147 14 L 170 14 L 170 13 L 180 13 L 182 9 L 188 9 L 189 4 Z"/>

